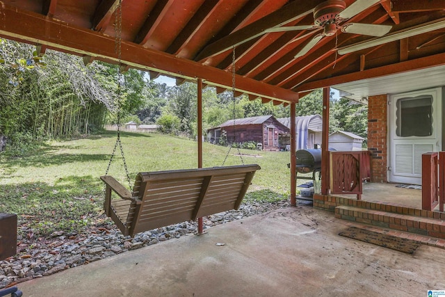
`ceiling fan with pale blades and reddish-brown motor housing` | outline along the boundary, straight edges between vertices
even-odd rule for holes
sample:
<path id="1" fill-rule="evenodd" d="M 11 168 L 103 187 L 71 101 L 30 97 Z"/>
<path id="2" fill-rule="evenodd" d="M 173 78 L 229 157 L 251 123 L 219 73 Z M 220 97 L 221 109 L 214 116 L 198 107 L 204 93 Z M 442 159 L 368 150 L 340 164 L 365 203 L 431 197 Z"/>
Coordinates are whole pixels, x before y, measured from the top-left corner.
<path id="1" fill-rule="evenodd" d="M 299 58 L 307 54 L 323 37 L 332 36 L 340 29 L 343 33 L 353 33 L 381 37 L 388 33 L 392 26 L 379 24 L 360 24 L 348 23 L 341 25 L 341 22 L 354 17 L 373 6 L 380 0 L 357 0 L 350 6 L 346 7 L 343 0 L 327 0 L 314 8 L 314 24 L 304 26 L 284 26 L 266 29 L 265 33 L 297 31 L 297 30 L 314 30 L 323 29 L 323 33 L 315 35 L 299 52 L 295 58 Z"/>

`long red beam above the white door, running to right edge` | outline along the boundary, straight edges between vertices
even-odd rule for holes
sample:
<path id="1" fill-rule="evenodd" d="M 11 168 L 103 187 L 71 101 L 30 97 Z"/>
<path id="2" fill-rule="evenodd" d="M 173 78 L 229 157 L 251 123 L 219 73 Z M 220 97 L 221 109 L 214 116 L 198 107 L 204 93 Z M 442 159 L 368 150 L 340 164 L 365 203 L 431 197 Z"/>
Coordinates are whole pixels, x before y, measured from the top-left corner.
<path id="1" fill-rule="evenodd" d="M 295 88 L 295 91 L 305 92 L 309 90 L 316 90 L 318 88 L 325 88 L 327 86 L 334 86 L 338 83 L 346 83 L 349 81 L 359 81 L 361 79 L 373 79 L 375 77 L 385 77 L 391 74 L 398 74 L 414 70 L 420 70 L 428 67 L 435 67 L 445 65 L 445 53 L 417 58 L 414 60 L 403 61 L 399 63 L 388 64 L 381 67 L 364 70 L 362 72 L 350 72 L 348 74 L 339 75 L 337 77 L 330 77 L 327 79 L 320 79 L 318 81 L 310 81 L 303 83 L 301 86 Z"/>

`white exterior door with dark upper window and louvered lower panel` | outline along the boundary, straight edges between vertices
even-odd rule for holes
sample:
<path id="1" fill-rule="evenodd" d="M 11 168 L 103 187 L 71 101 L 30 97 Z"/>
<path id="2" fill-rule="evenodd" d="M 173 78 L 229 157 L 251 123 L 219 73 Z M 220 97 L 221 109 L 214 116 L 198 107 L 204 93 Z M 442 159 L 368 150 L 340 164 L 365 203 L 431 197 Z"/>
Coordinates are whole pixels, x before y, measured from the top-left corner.
<path id="1" fill-rule="evenodd" d="M 442 90 L 390 97 L 389 182 L 421 184 L 421 155 L 442 147 Z"/>

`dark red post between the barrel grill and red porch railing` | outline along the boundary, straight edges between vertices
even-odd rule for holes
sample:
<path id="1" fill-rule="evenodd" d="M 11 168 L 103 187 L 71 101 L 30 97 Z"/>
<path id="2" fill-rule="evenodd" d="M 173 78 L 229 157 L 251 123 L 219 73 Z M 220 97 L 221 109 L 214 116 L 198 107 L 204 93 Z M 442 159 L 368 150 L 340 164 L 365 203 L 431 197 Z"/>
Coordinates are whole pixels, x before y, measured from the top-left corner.
<path id="1" fill-rule="evenodd" d="M 321 132 L 321 194 L 329 191 L 329 99 L 330 88 L 323 88 L 323 128 Z"/>

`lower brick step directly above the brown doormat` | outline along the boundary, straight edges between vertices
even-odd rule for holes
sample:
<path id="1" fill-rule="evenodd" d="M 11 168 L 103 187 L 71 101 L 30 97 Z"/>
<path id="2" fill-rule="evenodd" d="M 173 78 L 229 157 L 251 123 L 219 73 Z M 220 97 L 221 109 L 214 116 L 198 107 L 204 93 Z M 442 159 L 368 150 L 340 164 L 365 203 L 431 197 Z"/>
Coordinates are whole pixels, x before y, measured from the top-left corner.
<path id="1" fill-rule="evenodd" d="M 375 227 L 398 230 L 399 232 L 410 232 L 416 235 L 445 239 L 445 221 L 440 218 L 398 214 L 349 205 L 335 207 L 335 217 Z"/>

